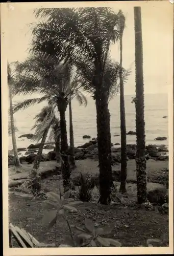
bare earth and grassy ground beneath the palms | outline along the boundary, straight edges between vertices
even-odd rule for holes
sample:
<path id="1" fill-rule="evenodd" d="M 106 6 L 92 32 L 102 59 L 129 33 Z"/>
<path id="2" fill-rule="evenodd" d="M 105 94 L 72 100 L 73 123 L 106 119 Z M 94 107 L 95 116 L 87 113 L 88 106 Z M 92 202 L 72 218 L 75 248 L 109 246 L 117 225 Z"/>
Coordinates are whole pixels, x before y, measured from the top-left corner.
<path id="1" fill-rule="evenodd" d="M 40 168 L 50 168 L 56 165 L 55 162 L 41 163 Z M 79 175 L 80 172 L 87 172 L 91 175 L 98 173 L 98 162 L 91 160 L 77 161 L 77 169 L 73 171 L 73 175 Z M 12 168 L 12 167 L 11 167 Z M 30 165 L 23 166 L 22 172 L 16 174 L 15 170 L 10 170 L 10 180 L 14 175 L 23 175 L 31 168 Z M 119 169 L 119 165 L 113 166 L 113 169 Z M 147 174 L 150 177 L 162 175 L 163 169 L 168 168 L 168 162 L 159 162 L 154 160 L 147 161 Z M 135 160 L 128 161 L 128 179 L 135 181 Z M 151 181 L 151 180 L 150 180 Z M 63 193 L 61 175 L 54 175 L 41 181 L 44 191 L 52 190 L 59 193 L 59 188 Z M 119 184 L 118 184 L 119 185 Z M 147 189 L 163 186 L 162 184 L 150 182 Z M 131 200 L 136 200 L 136 184 L 135 182 L 127 184 L 128 195 Z M 98 193 L 95 191 L 95 194 Z M 94 195 L 95 199 L 97 195 Z M 64 236 L 69 234 L 65 221 L 60 217 L 56 226 L 49 230 L 42 227 L 41 219 L 46 213 L 42 209 L 42 198 L 31 198 L 31 195 L 25 195 L 10 191 L 9 193 L 9 222 L 29 231 L 41 243 L 55 242 L 55 234 L 57 244 L 64 243 Z M 151 238 L 163 241 L 163 246 L 168 243 L 168 215 L 161 214 L 154 210 L 142 209 L 137 205 L 129 206 L 126 204 L 117 204 L 112 206 L 104 206 L 94 202 L 84 202 L 76 207 L 77 212 L 69 213 L 68 218 L 71 225 L 82 225 L 85 218 L 91 219 L 97 226 L 107 224 L 114 225 L 112 233 L 108 236 L 121 242 L 122 246 L 145 246 L 146 240 Z M 15 245 L 14 245 L 15 246 Z"/>

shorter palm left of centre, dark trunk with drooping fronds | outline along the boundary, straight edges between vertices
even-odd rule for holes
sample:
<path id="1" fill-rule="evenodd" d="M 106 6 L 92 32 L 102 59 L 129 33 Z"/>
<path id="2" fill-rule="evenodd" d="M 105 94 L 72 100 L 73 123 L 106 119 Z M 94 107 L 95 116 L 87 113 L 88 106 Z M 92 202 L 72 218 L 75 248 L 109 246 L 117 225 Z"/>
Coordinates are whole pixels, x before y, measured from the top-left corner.
<path id="1" fill-rule="evenodd" d="M 30 56 L 26 61 L 16 63 L 16 94 L 40 93 L 42 97 L 27 99 L 15 105 L 14 111 L 26 109 L 35 103 L 52 101 L 60 114 L 61 159 L 64 188 L 69 185 L 70 165 L 68 161 L 68 142 L 65 112 L 71 95 L 78 95 L 78 88 L 71 86 L 71 65 L 57 62 L 57 58 L 45 54 Z M 73 92 L 73 93 L 72 93 Z M 75 93 L 76 92 L 76 93 Z"/>

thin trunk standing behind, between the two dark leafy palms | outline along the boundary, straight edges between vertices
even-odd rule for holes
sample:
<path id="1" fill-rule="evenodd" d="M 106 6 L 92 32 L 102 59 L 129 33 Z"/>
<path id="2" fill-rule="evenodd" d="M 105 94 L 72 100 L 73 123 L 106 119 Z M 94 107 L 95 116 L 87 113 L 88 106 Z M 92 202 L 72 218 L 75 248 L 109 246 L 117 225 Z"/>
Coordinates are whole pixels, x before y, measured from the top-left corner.
<path id="1" fill-rule="evenodd" d="M 73 140 L 73 124 L 72 124 L 72 108 L 71 101 L 69 102 L 69 145 L 70 145 L 70 163 L 72 167 L 75 167 L 75 159 L 74 159 L 74 140 Z"/>

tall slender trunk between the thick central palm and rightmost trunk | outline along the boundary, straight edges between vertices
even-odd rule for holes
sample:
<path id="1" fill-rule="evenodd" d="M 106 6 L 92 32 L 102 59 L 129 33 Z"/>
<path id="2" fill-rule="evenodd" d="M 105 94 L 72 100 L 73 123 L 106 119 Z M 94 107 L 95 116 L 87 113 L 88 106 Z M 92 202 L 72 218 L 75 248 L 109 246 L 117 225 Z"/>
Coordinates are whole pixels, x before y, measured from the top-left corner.
<path id="1" fill-rule="evenodd" d="M 122 31 L 123 32 L 123 31 Z M 124 99 L 124 85 L 122 79 L 122 34 L 120 36 L 120 130 L 121 130 L 121 172 L 120 172 L 120 192 L 126 193 L 126 179 L 127 179 L 127 148 L 126 148 L 126 118 L 125 118 L 125 99 Z"/>

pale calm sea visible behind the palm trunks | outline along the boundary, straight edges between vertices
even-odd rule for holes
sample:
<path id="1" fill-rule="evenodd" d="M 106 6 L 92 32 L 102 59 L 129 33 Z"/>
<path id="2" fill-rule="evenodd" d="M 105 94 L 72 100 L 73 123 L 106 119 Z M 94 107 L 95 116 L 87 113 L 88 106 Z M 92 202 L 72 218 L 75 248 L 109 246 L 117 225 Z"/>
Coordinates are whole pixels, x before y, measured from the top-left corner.
<path id="1" fill-rule="evenodd" d="M 125 108 L 126 108 L 126 126 L 127 132 L 135 131 L 135 105 L 131 103 L 132 97 L 135 95 L 125 95 Z M 74 145 L 79 146 L 88 141 L 83 139 L 83 135 L 90 135 L 91 138 L 96 137 L 96 109 L 95 102 L 87 96 L 88 105 L 80 106 L 76 99 L 72 101 L 72 118 L 73 118 L 73 131 L 74 131 Z M 21 98 L 20 98 L 21 101 Z M 17 147 L 27 147 L 33 142 L 27 138 L 18 138 L 22 134 L 34 133 L 31 130 L 35 123 L 34 117 L 39 113 L 41 108 L 46 105 L 46 102 L 36 104 L 30 108 L 19 111 L 14 114 L 15 125 L 18 132 L 16 132 Z M 165 144 L 168 146 L 168 96 L 167 94 L 146 94 L 144 95 L 144 114 L 145 114 L 145 135 L 146 144 Z M 111 114 L 111 142 L 120 143 L 120 111 L 119 111 L 119 96 L 114 97 L 109 102 L 109 110 Z M 69 142 L 69 112 L 66 111 L 67 132 Z M 155 141 L 158 136 L 167 137 L 166 141 Z M 136 143 L 136 136 L 128 135 L 127 144 Z M 12 140 L 9 136 L 9 150 L 12 149 Z M 50 150 L 48 150 L 50 151 Z M 45 150 L 45 153 L 47 150 Z"/>

